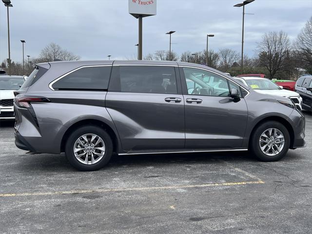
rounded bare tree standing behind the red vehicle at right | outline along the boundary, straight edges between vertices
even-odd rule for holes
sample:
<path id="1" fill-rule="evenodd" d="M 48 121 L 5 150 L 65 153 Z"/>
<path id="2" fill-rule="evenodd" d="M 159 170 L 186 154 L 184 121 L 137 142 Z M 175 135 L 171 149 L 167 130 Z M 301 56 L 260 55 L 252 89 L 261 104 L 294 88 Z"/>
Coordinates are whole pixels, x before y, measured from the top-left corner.
<path id="1" fill-rule="evenodd" d="M 258 43 L 259 63 L 266 67 L 271 79 L 287 68 L 290 60 L 289 48 L 289 37 L 283 31 L 265 34 Z"/>

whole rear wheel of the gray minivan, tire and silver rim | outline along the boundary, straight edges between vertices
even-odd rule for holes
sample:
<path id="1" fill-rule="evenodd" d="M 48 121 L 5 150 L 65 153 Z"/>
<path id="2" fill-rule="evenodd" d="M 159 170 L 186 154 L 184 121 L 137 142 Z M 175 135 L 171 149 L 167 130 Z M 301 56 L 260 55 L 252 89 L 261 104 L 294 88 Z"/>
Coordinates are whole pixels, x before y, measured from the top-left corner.
<path id="1" fill-rule="evenodd" d="M 113 152 L 111 137 L 98 126 L 83 126 L 72 132 L 65 145 L 70 164 L 80 171 L 104 167 Z"/>

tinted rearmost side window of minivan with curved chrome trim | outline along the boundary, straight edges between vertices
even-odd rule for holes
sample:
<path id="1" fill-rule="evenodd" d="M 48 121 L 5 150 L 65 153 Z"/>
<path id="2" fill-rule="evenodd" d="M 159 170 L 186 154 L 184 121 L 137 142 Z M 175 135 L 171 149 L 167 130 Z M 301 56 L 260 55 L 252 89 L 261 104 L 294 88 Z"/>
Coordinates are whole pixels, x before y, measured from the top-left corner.
<path id="1" fill-rule="evenodd" d="M 56 90 L 103 90 L 108 88 L 112 66 L 83 67 L 59 79 Z"/>

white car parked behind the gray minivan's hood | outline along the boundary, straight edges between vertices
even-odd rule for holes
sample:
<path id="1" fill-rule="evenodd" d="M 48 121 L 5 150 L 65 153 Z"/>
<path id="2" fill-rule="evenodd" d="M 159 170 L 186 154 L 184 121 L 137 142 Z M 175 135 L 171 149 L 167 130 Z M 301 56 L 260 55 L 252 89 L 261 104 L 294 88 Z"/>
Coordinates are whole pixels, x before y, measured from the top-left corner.
<path id="1" fill-rule="evenodd" d="M 270 79 L 259 77 L 235 77 L 234 79 L 251 87 L 258 93 L 290 98 L 297 109 L 302 110 L 302 98 L 298 93 L 283 89 L 282 86 L 278 86 Z"/>

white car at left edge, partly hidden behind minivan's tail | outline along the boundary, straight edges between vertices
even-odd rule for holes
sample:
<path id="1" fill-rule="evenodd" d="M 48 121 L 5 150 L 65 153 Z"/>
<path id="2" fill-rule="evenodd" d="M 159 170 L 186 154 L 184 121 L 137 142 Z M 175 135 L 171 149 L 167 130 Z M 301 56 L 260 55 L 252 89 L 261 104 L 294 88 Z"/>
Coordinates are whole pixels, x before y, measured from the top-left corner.
<path id="1" fill-rule="evenodd" d="M 25 78 L 22 76 L 0 76 L 0 120 L 15 119 L 13 92 L 20 89 L 24 81 Z"/>

